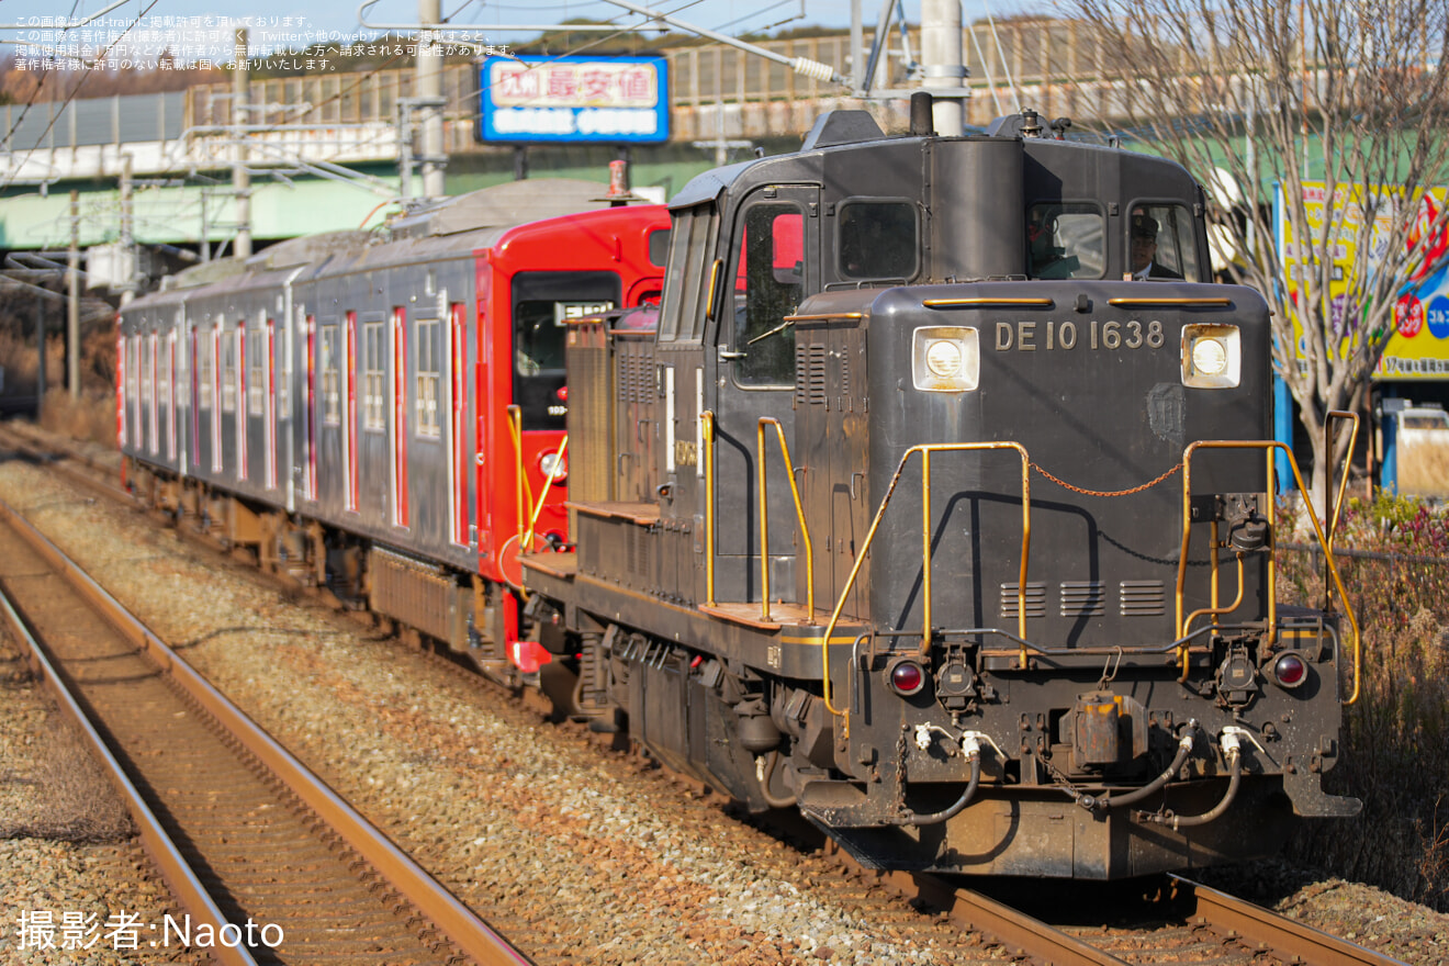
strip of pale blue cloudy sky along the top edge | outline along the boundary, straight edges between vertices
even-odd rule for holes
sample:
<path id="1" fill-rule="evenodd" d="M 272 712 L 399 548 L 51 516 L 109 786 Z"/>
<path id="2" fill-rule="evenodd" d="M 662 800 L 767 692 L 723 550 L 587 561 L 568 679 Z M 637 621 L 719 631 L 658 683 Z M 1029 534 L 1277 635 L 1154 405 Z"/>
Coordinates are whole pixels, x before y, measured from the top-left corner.
<path id="1" fill-rule="evenodd" d="M 822 25 L 848 26 L 851 0 L 632 0 L 636 6 L 662 10 L 697 26 L 724 33 L 785 29 L 790 26 Z M 987 0 L 975 0 L 984 3 Z M 0 0 L 0 48 L 14 52 L 16 41 L 32 43 L 55 42 L 45 33 L 57 20 L 72 23 L 100 13 L 114 0 Z M 875 0 L 861 0 L 862 17 L 874 25 L 878 14 Z M 1013 4 L 1014 6 L 1014 4 Z M 106 43 L 125 32 L 126 43 L 136 55 L 154 56 L 171 48 L 181 61 L 220 56 L 230 49 L 230 29 L 248 26 L 255 51 L 301 48 L 310 42 L 336 41 L 362 33 L 371 36 L 358 20 L 356 0 L 319 0 L 306 4 L 297 0 L 125 0 L 87 25 L 67 32 L 70 43 Z M 919 0 L 907 0 L 907 13 L 919 14 Z M 298 10 L 301 13 L 298 13 Z M 552 25 L 569 17 L 590 17 L 636 23 L 640 17 L 626 13 L 607 0 L 442 0 L 443 17 L 468 28 L 455 39 L 475 43 L 509 45 L 533 36 L 527 32 L 498 29 L 503 25 Z M 969 16 L 969 10 L 966 10 Z M 132 26 L 145 14 L 141 25 Z M 49 20 L 46 20 L 46 17 Z M 227 23 L 227 17 L 243 23 Z M 416 0 L 378 0 L 367 12 L 367 22 L 375 25 L 412 25 L 417 22 Z M 14 26 L 20 25 L 20 26 Z"/>

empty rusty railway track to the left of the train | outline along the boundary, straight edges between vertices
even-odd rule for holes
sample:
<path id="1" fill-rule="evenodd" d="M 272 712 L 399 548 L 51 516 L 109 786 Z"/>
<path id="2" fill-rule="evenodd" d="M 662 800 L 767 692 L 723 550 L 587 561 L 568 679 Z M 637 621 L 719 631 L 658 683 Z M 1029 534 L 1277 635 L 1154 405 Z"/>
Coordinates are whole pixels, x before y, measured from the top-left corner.
<path id="1" fill-rule="evenodd" d="M 225 963 L 526 963 L 0 504 L 0 605 L 184 907 L 141 941 Z"/>

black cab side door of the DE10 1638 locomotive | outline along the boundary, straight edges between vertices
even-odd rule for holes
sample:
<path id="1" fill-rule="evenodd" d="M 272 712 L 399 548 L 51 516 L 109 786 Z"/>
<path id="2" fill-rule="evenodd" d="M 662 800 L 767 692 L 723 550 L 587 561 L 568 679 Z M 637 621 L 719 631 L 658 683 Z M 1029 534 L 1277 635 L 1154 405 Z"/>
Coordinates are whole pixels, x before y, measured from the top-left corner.
<path id="1" fill-rule="evenodd" d="M 764 416 L 778 419 L 785 440 L 794 443 L 796 337 L 790 316 L 820 287 L 820 190 L 758 188 L 735 209 L 729 238 L 724 293 L 716 303 L 716 349 L 706 362 L 713 368 L 706 397 L 716 397 L 716 597 L 758 601 L 758 424 Z M 769 592 L 775 600 L 791 600 L 798 524 L 778 437 L 768 433 Z"/>

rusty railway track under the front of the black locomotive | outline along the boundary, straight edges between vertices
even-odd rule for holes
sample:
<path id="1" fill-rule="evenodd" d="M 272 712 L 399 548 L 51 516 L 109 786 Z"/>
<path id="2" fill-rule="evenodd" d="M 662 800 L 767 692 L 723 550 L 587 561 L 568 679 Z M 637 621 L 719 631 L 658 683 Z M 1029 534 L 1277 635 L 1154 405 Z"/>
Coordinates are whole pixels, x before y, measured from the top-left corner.
<path id="1" fill-rule="evenodd" d="M 55 468 L 67 472 L 64 462 Z M 475 686 L 490 686 L 475 675 L 468 679 Z M 804 875 L 826 879 L 843 904 L 868 910 L 872 928 L 893 937 L 920 936 L 936 946 L 949 943 L 949 962 L 1223 966 L 1398 962 L 1179 878 L 1139 883 L 1129 892 L 1111 889 L 1106 905 L 1082 898 L 1080 888 L 1075 896 L 1042 905 L 1022 896 L 988 898 L 927 876 L 872 873 L 839 862 L 839 872 Z M 904 896 L 909 904 L 898 898 L 884 902 L 887 895 Z M 1033 908 L 1040 918 L 1024 911 Z M 1066 908 L 1080 912 L 1075 921 L 1061 915 Z"/>

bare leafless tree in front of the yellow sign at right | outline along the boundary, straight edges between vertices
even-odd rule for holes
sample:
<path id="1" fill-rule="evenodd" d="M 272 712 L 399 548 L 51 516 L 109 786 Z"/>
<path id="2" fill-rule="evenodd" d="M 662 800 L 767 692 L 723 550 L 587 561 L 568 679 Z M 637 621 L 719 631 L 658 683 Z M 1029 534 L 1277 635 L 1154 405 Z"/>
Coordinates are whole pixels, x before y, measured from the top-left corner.
<path id="1" fill-rule="evenodd" d="M 1208 185 L 1233 281 L 1268 298 L 1321 508 L 1348 449 L 1342 434 L 1323 452 L 1327 413 L 1362 407 L 1395 303 L 1443 251 L 1424 188 L 1449 181 L 1449 0 L 1065 1 L 1114 113 Z"/>

